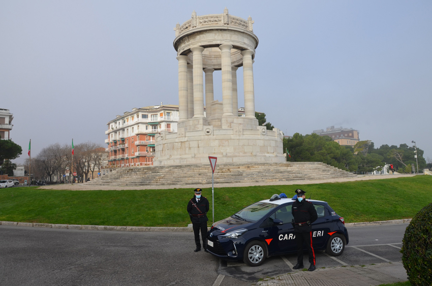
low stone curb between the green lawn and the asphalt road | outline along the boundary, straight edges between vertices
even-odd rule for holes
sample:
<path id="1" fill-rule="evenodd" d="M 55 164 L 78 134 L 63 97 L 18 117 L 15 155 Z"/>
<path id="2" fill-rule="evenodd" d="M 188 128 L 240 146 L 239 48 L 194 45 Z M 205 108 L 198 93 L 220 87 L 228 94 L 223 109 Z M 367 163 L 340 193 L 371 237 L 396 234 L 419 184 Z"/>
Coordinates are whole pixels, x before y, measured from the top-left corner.
<path id="1" fill-rule="evenodd" d="M 399 225 L 410 223 L 411 218 L 371 221 L 366 223 L 346 223 L 348 228 L 369 227 L 383 225 Z M 116 227 L 116 226 L 91 226 L 91 225 L 58 225 L 58 224 L 39 224 L 39 223 L 17 223 L 16 221 L 0 221 L 2 226 L 29 227 L 29 228 L 49 228 L 49 229 L 68 229 L 68 230 L 94 230 L 94 231 L 133 231 L 133 232 L 193 232 L 192 227 Z M 209 228 L 208 228 L 209 229 Z"/>

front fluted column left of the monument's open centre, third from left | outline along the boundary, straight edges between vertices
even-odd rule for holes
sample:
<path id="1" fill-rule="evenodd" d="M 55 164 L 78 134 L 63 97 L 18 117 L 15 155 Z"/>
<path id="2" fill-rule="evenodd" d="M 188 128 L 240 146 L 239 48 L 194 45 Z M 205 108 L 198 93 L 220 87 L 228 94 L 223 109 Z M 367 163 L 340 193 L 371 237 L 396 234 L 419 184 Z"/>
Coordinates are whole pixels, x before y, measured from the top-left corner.
<path id="1" fill-rule="evenodd" d="M 202 80 L 202 52 L 203 47 L 193 47 L 194 55 L 194 118 L 204 117 L 204 84 Z"/>

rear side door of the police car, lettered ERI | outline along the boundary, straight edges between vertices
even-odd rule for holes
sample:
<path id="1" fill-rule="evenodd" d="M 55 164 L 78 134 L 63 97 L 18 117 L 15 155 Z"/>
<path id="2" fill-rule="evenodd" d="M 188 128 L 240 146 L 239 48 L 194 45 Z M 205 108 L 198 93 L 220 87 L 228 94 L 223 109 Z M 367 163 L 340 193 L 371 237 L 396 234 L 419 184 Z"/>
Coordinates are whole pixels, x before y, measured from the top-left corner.
<path id="1" fill-rule="evenodd" d="M 323 247 L 331 231 L 332 219 L 324 204 L 314 203 L 318 219 L 312 224 L 312 242 L 315 247 Z"/>

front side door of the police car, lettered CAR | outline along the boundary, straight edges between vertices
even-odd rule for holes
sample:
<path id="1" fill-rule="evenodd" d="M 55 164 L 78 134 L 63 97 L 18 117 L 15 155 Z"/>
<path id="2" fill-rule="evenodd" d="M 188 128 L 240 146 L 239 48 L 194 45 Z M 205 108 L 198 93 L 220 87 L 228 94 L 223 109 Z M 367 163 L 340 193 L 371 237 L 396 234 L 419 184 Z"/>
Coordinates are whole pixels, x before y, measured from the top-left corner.
<path id="1" fill-rule="evenodd" d="M 284 224 L 274 226 L 274 219 L 280 219 Z M 268 246 L 272 254 L 289 252 L 296 249 L 292 219 L 291 204 L 282 206 L 268 217 L 268 234 L 272 238 Z"/>

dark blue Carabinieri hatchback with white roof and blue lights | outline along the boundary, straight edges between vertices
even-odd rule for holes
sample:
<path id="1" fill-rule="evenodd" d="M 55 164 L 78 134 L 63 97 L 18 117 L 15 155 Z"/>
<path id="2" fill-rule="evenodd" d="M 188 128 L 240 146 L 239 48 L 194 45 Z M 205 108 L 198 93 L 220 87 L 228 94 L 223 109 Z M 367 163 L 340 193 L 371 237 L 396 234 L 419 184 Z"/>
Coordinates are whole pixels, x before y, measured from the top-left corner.
<path id="1" fill-rule="evenodd" d="M 313 203 L 318 214 L 312 224 L 314 249 L 340 256 L 349 241 L 344 218 L 327 202 L 307 201 Z M 207 233 L 207 251 L 224 260 L 243 260 L 250 266 L 261 265 L 266 257 L 297 252 L 293 202 L 283 194 L 273 195 L 214 223 Z"/>

